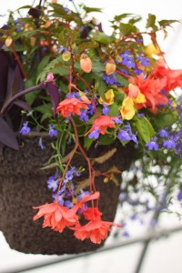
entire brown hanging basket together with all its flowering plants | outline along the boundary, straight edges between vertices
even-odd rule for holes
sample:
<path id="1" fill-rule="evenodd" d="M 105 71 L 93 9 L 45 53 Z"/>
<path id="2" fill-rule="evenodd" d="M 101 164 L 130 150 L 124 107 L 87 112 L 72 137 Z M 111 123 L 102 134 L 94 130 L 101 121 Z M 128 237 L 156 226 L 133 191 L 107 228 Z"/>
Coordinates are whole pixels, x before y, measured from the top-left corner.
<path id="1" fill-rule="evenodd" d="M 0 30 L 1 206 L 15 213 L 14 228 L 20 218 L 20 233 L 27 228 L 30 236 L 25 243 L 18 235 L 15 247 L 3 211 L 1 229 L 12 248 L 25 252 L 78 253 L 102 245 L 112 226 L 123 227 L 113 219 L 121 173 L 130 165 L 135 173 L 140 162 L 143 180 L 151 166 L 165 169 L 165 175 L 154 171 L 158 183 L 173 169 L 177 179 L 162 182 L 167 197 L 182 190 L 182 106 L 175 91 L 182 70 L 167 66 L 157 43 L 157 33 L 167 35 L 177 21 L 148 15 L 140 30 L 140 16 L 116 15 L 106 35 L 89 16 L 100 9 L 75 7 L 24 6 Z M 143 180 L 123 187 L 125 202 Z M 69 249 L 61 249 L 59 238 Z"/>

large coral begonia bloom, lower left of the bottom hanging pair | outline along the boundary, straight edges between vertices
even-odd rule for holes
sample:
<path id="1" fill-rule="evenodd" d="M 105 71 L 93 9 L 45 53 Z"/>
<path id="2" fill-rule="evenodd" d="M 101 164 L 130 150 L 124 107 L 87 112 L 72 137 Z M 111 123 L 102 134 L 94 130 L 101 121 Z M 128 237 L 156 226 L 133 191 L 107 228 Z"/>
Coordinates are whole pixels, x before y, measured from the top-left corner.
<path id="1" fill-rule="evenodd" d="M 78 221 L 76 216 L 77 207 L 68 209 L 58 203 L 46 203 L 43 206 L 34 208 L 39 208 L 39 211 L 33 218 L 34 220 L 45 217 L 43 227 L 51 227 L 59 232 L 63 232 L 65 227 L 76 225 Z"/>

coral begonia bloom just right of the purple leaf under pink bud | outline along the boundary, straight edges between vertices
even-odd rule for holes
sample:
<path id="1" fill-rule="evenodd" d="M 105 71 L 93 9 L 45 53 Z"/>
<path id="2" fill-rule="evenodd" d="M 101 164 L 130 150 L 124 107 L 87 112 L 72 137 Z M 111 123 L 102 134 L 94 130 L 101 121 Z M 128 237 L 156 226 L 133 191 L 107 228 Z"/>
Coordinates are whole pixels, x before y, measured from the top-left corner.
<path id="1" fill-rule="evenodd" d="M 72 115 L 81 115 L 80 110 L 88 109 L 88 106 L 76 97 L 66 98 L 56 108 L 56 113 L 60 113 L 61 116 L 68 117 L 70 114 Z"/>

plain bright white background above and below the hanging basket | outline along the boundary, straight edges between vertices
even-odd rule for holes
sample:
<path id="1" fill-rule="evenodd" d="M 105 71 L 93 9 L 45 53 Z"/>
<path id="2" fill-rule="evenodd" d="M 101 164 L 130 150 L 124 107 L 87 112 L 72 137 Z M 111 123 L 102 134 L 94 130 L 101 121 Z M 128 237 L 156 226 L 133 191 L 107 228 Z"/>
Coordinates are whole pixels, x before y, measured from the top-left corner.
<path id="1" fill-rule="evenodd" d="M 5 0 L 1 1 L 0 15 L 6 15 L 8 9 L 15 10 L 21 5 L 31 5 L 32 0 Z M 80 0 L 75 1 L 76 4 L 80 3 Z M 161 19 L 177 19 L 182 20 L 181 4 L 182 0 L 85 0 L 86 5 L 94 7 L 102 7 L 103 14 L 95 14 L 97 20 L 103 22 L 104 30 L 109 34 L 109 23 L 115 15 L 123 13 L 133 13 L 136 15 L 142 15 L 144 18 L 147 14 L 157 15 L 158 20 Z M 35 4 L 39 1 L 35 0 Z M 72 3 L 67 1 L 59 1 L 61 4 L 72 6 Z M 5 16 L 0 17 L 0 25 L 5 24 Z M 160 36 L 160 45 L 163 50 L 167 52 L 167 63 L 171 68 L 182 68 L 182 25 L 176 24 L 175 28 L 169 29 L 169 35 L 165 41 L 163 36 Z M 167 223 L 170 217 L 164 220 L 167 227 Z M 137 232 L 137 227 L 136 232 Z M 174 236 L 174 239 L 168 239 L 167 244 L 165 241 L 156 243 L 156 248 L 150 249 L 150 258 L 144 265 L 141 273 L 181 273 L 182 268 L 182 244 L 181 234 Z M 136 258 L 141 249 L 141 246 L 126 247 L 125 249 L 114 250 L 109 254 L 97 255 L 95 258 L 83 258 L 76 261 L 70 261 L 63 265 L 57 265 L 52 268 L 36 269 L 36 273 L 54 273 L 54 272 L 72 272 L 77 273 L 109 273 L 109 272 L 124 272 L 132 273 L 132 268 L 135 267 Z M 172 251 L 166 251 L 165 249 L 172 249 Z M 176 251 L 175 251 L 176 250 Z M 149 253 L 148 253 L 149 254 Z M 160 256 L 163 258 L 159 258 Z M 5 273 L 6 268 L 15 268 L 15 266 L 32 264 L 35 261 L 43 261 L 47 259 L 41 255 L 25 255 L 15 250 L 11 250 L 5 242 L 5 238 L 0 232 L 0 273 Z M 48 259 L 52 259 L 49 257 Z M 117 262 L 116 262 L 117 261 Z M 119 263 L 118 263 L 119 261 Z M 96 269 L 96 265 L 100 265 Z M 166 267 L 164 267 L 166 265 Z M 176 268 L 175 268 L 176 267 Z M 8 272 L 8 271 L 6 271 Z M 31 271 L 32 272 L 32 271 Z"/>

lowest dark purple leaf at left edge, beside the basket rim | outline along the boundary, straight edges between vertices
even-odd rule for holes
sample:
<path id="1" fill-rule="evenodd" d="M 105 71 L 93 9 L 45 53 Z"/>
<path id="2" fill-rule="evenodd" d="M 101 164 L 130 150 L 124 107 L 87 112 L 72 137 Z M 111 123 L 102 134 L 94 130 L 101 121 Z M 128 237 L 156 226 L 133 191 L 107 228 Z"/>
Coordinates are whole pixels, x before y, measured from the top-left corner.
<path id="1" fill-rule="evenodd" d="M 0 142 L 8 147 L 18 150 L 19 146 L 15 138 L 14 131 L 5 122 L 5 119 L 0 117 Z"/>

